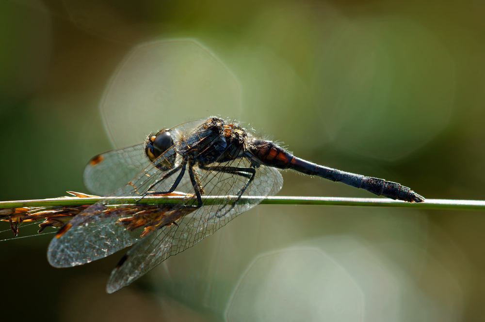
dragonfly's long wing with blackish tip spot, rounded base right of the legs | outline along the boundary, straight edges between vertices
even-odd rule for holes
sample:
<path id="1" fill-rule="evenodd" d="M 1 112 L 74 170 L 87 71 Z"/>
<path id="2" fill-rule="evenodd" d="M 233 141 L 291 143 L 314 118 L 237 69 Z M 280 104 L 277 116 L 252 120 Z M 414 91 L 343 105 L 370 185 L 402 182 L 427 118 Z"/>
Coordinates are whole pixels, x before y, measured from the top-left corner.
<path id="1" fill-rule="evenodd" d="M 225 166 L 250 168 L 251 165 L 244 159 L 238 159 Z M 276 194 L 283 184 L 283 178 L 278 170 L 260 167 L 256 169 L 253 182 L 247 186 L 243 194 L 254 198 L 235 204 L 238 193 L 247 184 L 248 178 L 222 171 L 197 171 L 202 178 L 206 195 L 226 196 L 227 202 L 223 205 L 204 205 L 185 215 L 177 226 L 171 225 L 155 230 L 140 241 L 128 251 L 111 273 L 107 285 L 109 293 L 128 285 L 169 256 L 192 247 L 213 234 L 237 215 L 259 204 L 264 197 Z"/>

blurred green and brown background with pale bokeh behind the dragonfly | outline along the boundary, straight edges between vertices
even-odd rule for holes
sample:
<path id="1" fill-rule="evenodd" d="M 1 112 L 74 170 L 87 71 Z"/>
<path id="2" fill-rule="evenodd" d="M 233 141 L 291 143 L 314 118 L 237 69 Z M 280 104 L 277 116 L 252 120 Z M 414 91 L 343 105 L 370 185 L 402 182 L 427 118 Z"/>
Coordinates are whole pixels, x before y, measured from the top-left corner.
<path id="1" fill-rule="evenodd" d="M 2 1 L 0 200 L 87 192 L 93 155 L 214 114 L 426 198 L 484 199 L 484 14 L 478 0 Z M 283 176 L 279 195 L 372 197 Z M 112 295 L 121 254 L 55 269 L 49 235 L 3 241 L 1 320 L 485 321 L 484 229 L 472 211 L 261 205 Z"/>

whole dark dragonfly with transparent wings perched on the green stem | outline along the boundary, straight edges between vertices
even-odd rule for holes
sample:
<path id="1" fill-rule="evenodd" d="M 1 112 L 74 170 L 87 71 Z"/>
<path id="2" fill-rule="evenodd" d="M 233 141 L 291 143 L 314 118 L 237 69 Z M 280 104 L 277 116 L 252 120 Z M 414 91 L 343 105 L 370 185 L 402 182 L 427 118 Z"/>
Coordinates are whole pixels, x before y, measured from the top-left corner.
<path id="1" fill-rule="evenodd" d="M 81 265 L 133 245 L 108 280 L 108 293 L 118 291 L 275 195 L 283 184 L 282 169 L 391 199 L 424 201 L 401 184 L 317 165 L 258 138 L 235 121 L 209 117 L 162 129 L 149 134 L 144 143 L 93 157 L 84 170 L 86 188 L 96 195 L 133 197 L 138 203 L 106 198 L 82 210 L 50 242 L 49 263 Z M 158 195 L 178 195 L 184 201 L 140 203 Z M 205 196 L 221 196 L 222 201 L 209 203 Z"/>

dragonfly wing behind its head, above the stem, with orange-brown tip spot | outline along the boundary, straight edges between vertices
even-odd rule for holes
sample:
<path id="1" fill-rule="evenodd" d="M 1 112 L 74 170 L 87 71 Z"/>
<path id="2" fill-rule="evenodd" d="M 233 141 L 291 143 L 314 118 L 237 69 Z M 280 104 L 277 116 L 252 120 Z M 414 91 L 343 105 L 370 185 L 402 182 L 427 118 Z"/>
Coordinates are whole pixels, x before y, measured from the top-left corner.
<path id="1" fill-rule="evenodd" d="M 93 157 L 84 169 L 84 185 L 97 196 L 108 196 L 150 164 L 144 144 L 112 150 Z"/>

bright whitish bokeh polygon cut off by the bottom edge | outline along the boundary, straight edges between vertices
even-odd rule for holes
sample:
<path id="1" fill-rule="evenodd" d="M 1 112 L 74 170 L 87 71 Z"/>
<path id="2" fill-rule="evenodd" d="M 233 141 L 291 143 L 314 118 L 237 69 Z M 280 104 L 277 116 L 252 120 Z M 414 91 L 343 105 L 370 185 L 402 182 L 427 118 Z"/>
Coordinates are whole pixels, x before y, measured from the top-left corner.
<path id="1" fill-rule="evenodd" d="M 356 321 L 356 281 L 321 249 L 290 247 L 259 255 L 229 300 L 227 321 Z"/>

